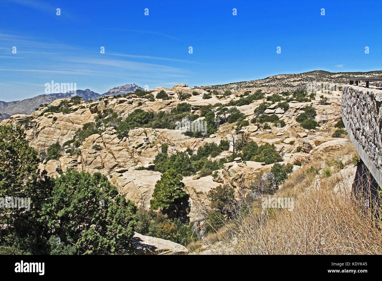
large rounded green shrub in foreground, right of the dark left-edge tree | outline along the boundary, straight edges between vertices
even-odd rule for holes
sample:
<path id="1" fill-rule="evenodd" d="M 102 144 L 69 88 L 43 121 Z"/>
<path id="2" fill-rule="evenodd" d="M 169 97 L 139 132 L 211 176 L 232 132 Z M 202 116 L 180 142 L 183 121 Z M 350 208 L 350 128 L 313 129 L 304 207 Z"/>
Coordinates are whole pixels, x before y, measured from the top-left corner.
<path id="1" fill-rule="evenodd" d="M 79 254 L 132 253 L 135 212 L 107 177 L 75 170 L 55 180 L 46 210 L 55 236 Z"/>

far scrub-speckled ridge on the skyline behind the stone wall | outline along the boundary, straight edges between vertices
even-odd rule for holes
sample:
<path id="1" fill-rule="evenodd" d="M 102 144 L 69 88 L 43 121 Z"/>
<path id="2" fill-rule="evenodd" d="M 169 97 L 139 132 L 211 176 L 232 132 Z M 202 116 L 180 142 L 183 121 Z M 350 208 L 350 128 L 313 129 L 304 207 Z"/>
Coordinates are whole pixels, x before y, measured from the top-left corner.
<path id="1" fill-rule="evenodd" d="M 290 89 L 305 86 L 309 82 L 347 83 L 351 77 L 381 77 L 382 70 L 369 72 L 329 72 L 314 70 L 304 73 L 280 74 L 253 81 L 241 81 L 230 84 L 208 86 L 207 89 L 245 89 L 245 88 L 278 88 Z"/>

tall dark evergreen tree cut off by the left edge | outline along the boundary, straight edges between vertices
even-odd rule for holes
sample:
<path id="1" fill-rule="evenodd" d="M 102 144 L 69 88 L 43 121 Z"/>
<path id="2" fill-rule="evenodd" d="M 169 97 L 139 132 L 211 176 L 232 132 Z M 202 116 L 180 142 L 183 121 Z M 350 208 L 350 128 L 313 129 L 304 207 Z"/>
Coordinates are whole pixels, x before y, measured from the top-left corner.
<path id="1" fill-rule="evenodd" d="M 37 169 L 38 164 L 37 152 L 28 145 L 23 130 L 0 126 L 0 200 L 6 204 L 0 208 L 2 247 L 36 254 L 48 251 L 49 230 L 40 211 L 51 183 L 46 171 Z M 15 198 L 30 200 L 21 201 L 23 208 L 7 208 Z"/>

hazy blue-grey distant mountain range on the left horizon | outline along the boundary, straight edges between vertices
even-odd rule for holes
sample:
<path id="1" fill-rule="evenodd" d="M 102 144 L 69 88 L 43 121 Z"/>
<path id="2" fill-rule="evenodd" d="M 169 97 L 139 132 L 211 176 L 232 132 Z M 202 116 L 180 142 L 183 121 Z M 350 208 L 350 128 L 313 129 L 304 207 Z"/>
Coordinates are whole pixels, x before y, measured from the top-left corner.
<path id="1" fill-rule="evenodd" d="M 8 119 L 11 115 L 14 114 L 31 114 L 40 104 L 50 104 L 56 99 L 70 98 L 74 95 L 82 97 L 85 101 L 98 100 L 100 97 L 108 95 L 117 95 L 134 92 L 136 89 L 143 90 L 142 87 L 139 87 L 136 84 L 126 84 L 124 86 L 118 86 L 113 89 L 110 89 L 104 94 L 95 93 L 89 89 L 86 90 L 77 90 L 76 94 L 71 92 L 67 93 L 57 93 L 57 94 L 43 94 L 36 97 L 31 97 L 30 99 L 23 99 L 21 101 L 0 101 L 0 121 L 3 119 Z"/>

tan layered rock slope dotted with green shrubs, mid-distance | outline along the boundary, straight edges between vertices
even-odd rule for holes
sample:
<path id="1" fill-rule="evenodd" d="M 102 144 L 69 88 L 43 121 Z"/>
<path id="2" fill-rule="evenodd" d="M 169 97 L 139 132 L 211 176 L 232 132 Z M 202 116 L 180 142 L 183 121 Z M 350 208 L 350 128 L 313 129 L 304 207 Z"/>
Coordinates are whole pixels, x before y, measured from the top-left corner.
<path id="1" fill-rule="evenodd" d="M 219 162 L 221 166 L 215 175 L 208 169 L 184 173 L 182 182 L 190 196 L 191 221 L 201 220 L 203 210 L 209 208 L 207 193 L 212 188 L 228 184 L 239 194 L 247 190 L 257 172 L 269 171 L 274 165 L 267 164 L 266 157 L 246 161 L 239 157 L 234 161 L 232 138 L 236 145 L 241 140 L 243 145 L 271 145 L 272 155 L 278 155 L 277 161 L 292 164 L 294 170 L 303 162 L 325 159 L 350 143 L 346 132 L 337 132 L 334 127 L 341 119 L 342 93 L 338 89 L 306 97 L 299 96 L 303 92 L 281 95 L 281 91 L 261 92 L 258 88 L 236 91 L 229 96 L 223 96 L 220 91 L 211 93 L 204 87 L 177 84 L 173 88 L 142 91 L 139 96 L 136 93 L 118 98 L 109 95 L 92 102 L 61 99 L 31 115 L 13 115 L 1 124 L 16 123 L 24 127 L 29 145 L 41 155 L 40 169 L 46 169 L 49 175 L 58 176 L 68 169 L 91 174 L 101 172 L 120 193 L 143 208 L 149 208 L 155 183 L 162 175 L 153 162 L 163 152 L 164 145 L 168 146 L 167 157 L 183 155 L 179 153 L 188 153 L 185 155 L 190 157 L 206 144 L 218 146 L 228 141 L 229 146 L 222 146 L 219 153 L 208 156 L 209 163 L 224 160 Z M 307 118 L 304 110 L 308 112 L 312 107 L 315 114 L 307 123 L 315 125 L 307 129 L 301 120 Z M 230 120 L 230 115 L 240 117 Z M 208 119 L 212 123 L 204 136 L 185 134 L 184 130 L 175 130 L 176 118 Z M 133 122 L 132 127 L 123 130 L 126 122 Z M 56 143 L 60 154 L 47 157 L 48 148 Z M 235 153 L 241 153 L 240 148 Z"/>

